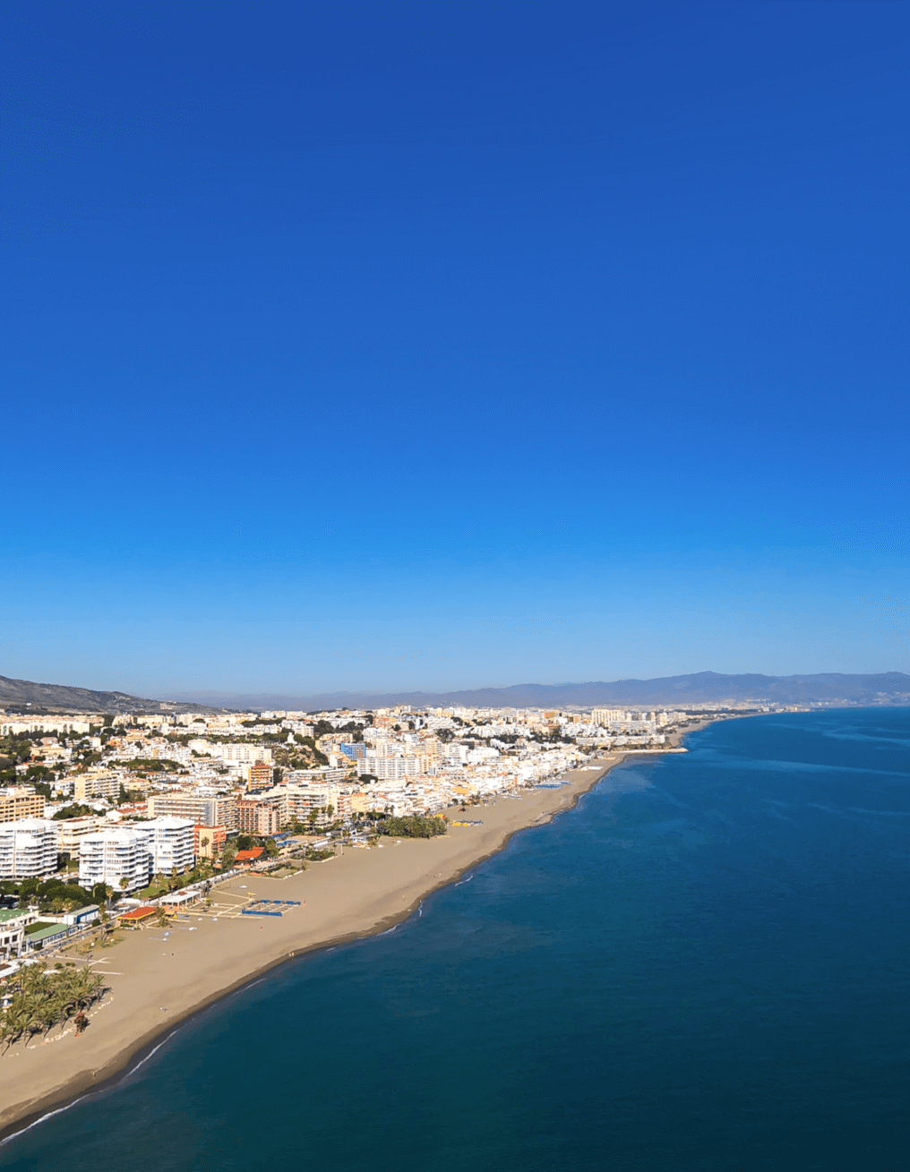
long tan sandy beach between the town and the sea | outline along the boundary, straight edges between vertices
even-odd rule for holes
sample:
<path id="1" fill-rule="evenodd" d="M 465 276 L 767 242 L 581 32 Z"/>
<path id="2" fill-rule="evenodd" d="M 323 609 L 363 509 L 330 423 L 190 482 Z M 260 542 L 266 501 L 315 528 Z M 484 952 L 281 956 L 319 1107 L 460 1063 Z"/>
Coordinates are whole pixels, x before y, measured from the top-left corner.
<path id="1" fill-rule="evenodd" d="M 301 952 L 386 931 L 429 892 L 501 850 L 517 830 L 575 805 L 624 757 L 591 762 L 568 774 L 559 789 L 521 790 L 463 816 L 448 811 L 450 819 L 482 819 L 482 826 L 451 826 L 433 839 L 383 838 L 381 847 L 346 847 L 344 854 L 285 879 L 232 879 L 212 892 L 211 908 L 199 905 L 169 928 L 128 933 L 121 943 L 95 949 L 91 967 L 106 974 L 111 992 L 86 1033 L 76 1037 L 72 1027 L 63 1034 L 55 1030 L 47 1043 L 20 1042 L 0 1058 L 0 1136 L 117 1077 L 181 1021 L 263 970 Z M 251 895 L 300 900 L 300 906 L 281 917 L 239 915 Z"/>

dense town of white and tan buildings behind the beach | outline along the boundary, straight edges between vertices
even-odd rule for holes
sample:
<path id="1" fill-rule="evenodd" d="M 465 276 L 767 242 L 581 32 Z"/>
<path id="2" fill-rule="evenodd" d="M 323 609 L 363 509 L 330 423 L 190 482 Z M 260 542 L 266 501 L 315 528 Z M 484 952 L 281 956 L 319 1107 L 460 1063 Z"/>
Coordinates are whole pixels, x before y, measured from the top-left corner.
<path id="1" fill-rule="evenodd" d="M 592 752 L 666 749 L 698 711 L 429 709 L 0 715 L 0 883 L 21 905 L 59 877 L 96 906 L 0 938 L 0 960 L 81 927 L 102 907 L 150 901 L 205 865 L 281 861 L 303 844 L 375 839 L 546 784 Z M 156 887 L 157 880 L 157 887 Z M 21 888 L 22 884 L 25 888 Z M 16 886 L 19 885 L 19 886 Z M 25 895 L 23 895 L 25 891 Z M 61 907 L 56 907 L 61 905 Z M 2 914 L 11 920 L 12 908 Z M 28 913 L 27 913 L 28 914 Z M 56 929 L 56 931 L 54 931 Z M 8 936 L 8 939 L 7 939 Z"/>

